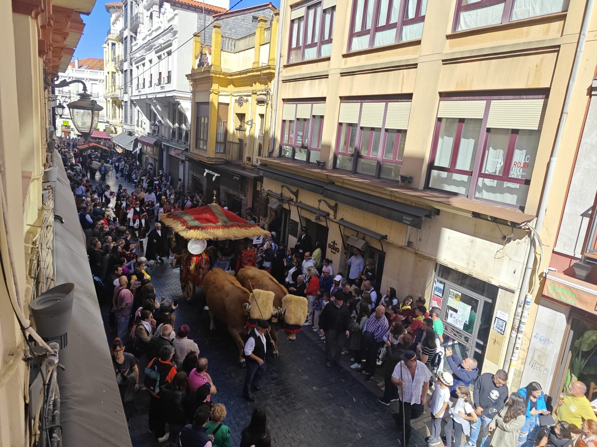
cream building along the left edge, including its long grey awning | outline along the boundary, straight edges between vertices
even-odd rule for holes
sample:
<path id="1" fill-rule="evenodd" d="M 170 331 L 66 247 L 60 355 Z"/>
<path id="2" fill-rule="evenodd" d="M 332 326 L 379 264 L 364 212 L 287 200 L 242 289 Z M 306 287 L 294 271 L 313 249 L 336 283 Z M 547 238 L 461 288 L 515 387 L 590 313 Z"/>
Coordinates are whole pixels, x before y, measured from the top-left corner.
<path id="1" fill-rule="evenodd" d="M 89 15 L 95 3 L 0 2 L 2 446 L 45 446 L 48 433 L 65 447 L 127 445 L 85 241 L 69 179 L 54 150 L 54 82 L 66 71 L 81 38 L 82 15 Z M 51 343 L 54 334 L 42 334 L 30 305 L 48 288 L 64 283 L 73 283 L 73 305 L 69 327 L 55 328 L 64 331 L 57 335 L 57 350 L 59 345 Z M 102 371 L 101 385 L 90 380 L 94 371 Z M 60 407 L 48 413 L 48 405 L 56 402 Z"/>

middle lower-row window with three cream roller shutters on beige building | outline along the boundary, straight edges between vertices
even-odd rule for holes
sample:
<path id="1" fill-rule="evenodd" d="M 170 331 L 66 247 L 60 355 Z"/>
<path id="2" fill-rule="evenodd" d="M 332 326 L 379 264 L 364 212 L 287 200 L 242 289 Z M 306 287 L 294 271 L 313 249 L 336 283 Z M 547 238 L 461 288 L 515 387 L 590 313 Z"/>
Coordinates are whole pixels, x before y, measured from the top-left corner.
<path id="1" fill-rule="evenodd" d="M 340 103 L 336 169 L 398 180 L 410 100 Z"/>

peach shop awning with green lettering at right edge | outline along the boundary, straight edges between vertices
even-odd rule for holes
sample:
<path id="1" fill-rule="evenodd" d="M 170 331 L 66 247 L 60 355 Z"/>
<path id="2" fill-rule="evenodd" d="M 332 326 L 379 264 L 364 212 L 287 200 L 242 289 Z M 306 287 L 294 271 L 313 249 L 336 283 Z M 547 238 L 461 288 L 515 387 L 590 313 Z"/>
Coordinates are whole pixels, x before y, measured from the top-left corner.
<path id="1" fill-rule="evenodd" d="M 597 313 L 597 286 L 550 271 L 545 275 L 543 296 L 586 312 Z"/>

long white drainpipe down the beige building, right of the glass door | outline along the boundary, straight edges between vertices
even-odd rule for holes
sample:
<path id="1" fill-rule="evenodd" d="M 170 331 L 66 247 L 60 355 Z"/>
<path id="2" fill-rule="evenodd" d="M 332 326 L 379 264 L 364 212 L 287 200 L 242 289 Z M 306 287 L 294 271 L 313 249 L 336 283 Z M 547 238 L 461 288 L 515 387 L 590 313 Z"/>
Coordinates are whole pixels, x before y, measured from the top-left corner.
<path id="1" fill-rule="evenodd" d="M 578 46 L 576 48 L 576 55 L 574 56 L 574 63 L 572 66 L 572 72 L 570 73 L 570 80 L 568 80 L 568 88 L 566 92 L 566 98 L 564 100 L 564 108 L 560 116 L 558 124 L 558 132 L 556 134 L 556 140 L 553 144 L 552 156 L 547 164 L 547 175 L 545 178 L 545 187 L 543 194 L 541 195 L 541 202 L 539 204 L 539 210 L 537 213 L 537 223 L 535 228 L 540 232 L 543 227 L 543 220 L 545 218 L 545 212 L 547 209 L 547 200 L 549 200 L 549 193 L 552 189 L 553 175 L 555 174 L 556 163 L 558 162 L 558 153 L 560 145 L 562 143 L 562 135 L 564 135 L 564 128 L 566 126 L 566 120 L 568 118 L 568 111 L 570 110 L 570 103 L 572 102 L 572 95 L 574 94 L 574 87 L 576 86 L 576 79 L 578 77 L 578 68 L 580 67 L 583 51 L 584 42 L 587 39 L 587 30 L 591 20 L 591 14 L 593 12 L 593 4 L 595 0 L 588 0 L 586 10 L 584 12 L 583 24 L 580 29 L 580 35 L 578 35 Z M 522 344 L 522 337 L 524 336 L 525 326 L 527 325 L 528 311 L 533 302 L 533 290 L 527 293 L 528 283 L 533 272 L 533 264 L 535 262 L 535 253 L 537 251 L 538 238 L 533 231 L 533 237 L 531 241 L 531 249 L 527 257 L 527 265 L 525 266 L 524 275 L 522 277 L 521 291 L 518 296 L 518 306 L 516 306 L 516 314 L 514 322 L 512 323 L 512 333 L 508 340 L 508 346 L 506 349 L 506 359 L 504 361 L 504 370 L 509 371 L 516 367 L 518 361 L 518 353 Z M 537 243 L 538 242 L 538 243 Z M 533 285 L 534 288 L 534 285 Z M 513 374 L 509 375 L 508 383 L 512 383 Z"/>

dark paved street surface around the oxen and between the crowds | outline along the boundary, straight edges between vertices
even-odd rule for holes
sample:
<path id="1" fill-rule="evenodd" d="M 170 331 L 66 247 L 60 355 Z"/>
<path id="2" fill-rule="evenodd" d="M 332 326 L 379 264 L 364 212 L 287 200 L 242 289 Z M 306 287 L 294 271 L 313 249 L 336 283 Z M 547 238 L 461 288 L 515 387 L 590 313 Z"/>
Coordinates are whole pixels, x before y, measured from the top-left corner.
<path id="1" fill-rule="evenodd" d="M 122 181 L 108 178 L 108 184 L 115 187 Z M 128 185 L 131 191 L 131 185 Z M 364 382 L 364 376 L 349 369 L 349 359 L 343 356 L 343 367 L 325 367 L 324 342 L 309 328 L 297 335 L 295 342 L 288 342 L 280 334 L 281 356 L 268 356 L 267 373 L 263 387 L 254 395 L 256 403 L 242 399 L 242 384 L 245 370 L 239 367 L 238 351 L 232 338 L 220 324 L 214 333 L 210 332 L 207 312 L 199 312 L 195 303 L 184 301 L 179 283 L 178 269 L 170 269 L 165 263 L 156 266 L 151 274 L 156 295 L 179 298 L 175 327 L 188 324 L 189 338 L 199 346 L 200 356 L 210 362 L 211 374 L 218 392 L 212 396 L 214 403 L 226 405 L 227 417 L 224 423 L 232 432 L 232 445 L 240 442 L 240 432 L 251 417 L 255 406 L 264 406 L 267 411 L 272 446 L 362 446 L 390 447 L 398 445 L 398 432 L 392 419 L 393 409 L 377 399 L 381 392 L 376 380 Z M 107 324 L 109 305 L 101 303 L 104 325 Z M 107 330 L 107 325 L 106 325 Z M 114 334 L 107 332 L 109 342 Z M 132 418 L 131 439 L 136 447 L 157 445 L 153 434 L 147 429 L 149 393 L 137 395 L 138 414 Z M 424 418 L 421 418 L 423 420 Z M 419 422 L 417 424 L 417 422 Z M 413 427 L 423 427 L 422 421 L 413 421 Z M 421 431 L 426 436 L 429 433 Z M 411 446 L 424 446 L 423 437 L 413 431 Z"/>

